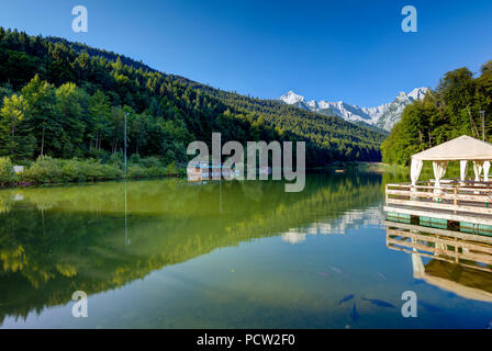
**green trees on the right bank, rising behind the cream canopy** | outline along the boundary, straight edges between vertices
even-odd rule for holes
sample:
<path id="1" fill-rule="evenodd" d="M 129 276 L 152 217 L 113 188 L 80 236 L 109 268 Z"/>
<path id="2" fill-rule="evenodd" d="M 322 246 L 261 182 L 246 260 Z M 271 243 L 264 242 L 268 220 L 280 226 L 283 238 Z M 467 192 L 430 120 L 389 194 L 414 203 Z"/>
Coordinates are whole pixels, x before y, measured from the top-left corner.
<path id="1" fill-rule="evenodd" d="M 492 60 L 474 77 L 468 68 L 447 72 L 435 90 L 403 111 L 401 121 L 382 144 L 383 161 L 409 165 L 413 154 L 460 135 L 492 141 Z"/>

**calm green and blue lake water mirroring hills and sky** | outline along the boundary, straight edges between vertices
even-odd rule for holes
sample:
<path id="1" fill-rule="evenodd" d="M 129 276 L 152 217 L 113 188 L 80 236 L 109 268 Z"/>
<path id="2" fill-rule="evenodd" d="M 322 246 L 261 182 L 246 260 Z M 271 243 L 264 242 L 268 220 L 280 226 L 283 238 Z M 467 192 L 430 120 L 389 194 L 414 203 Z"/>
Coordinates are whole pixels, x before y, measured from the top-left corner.
<path id="1" fill-rule="evenodd" d="M 492 265 L 422 257 L 434 278 L 415 276 L 415 254 L 387 246 L 388 180 L 311 174 L 301 193 L 180 179 L 1 191 L 0 326 L 485 328 Z M 88 318 L 72 317 L 75 291 Z M 417 318 L 402 317 L 405 291 Z"/>

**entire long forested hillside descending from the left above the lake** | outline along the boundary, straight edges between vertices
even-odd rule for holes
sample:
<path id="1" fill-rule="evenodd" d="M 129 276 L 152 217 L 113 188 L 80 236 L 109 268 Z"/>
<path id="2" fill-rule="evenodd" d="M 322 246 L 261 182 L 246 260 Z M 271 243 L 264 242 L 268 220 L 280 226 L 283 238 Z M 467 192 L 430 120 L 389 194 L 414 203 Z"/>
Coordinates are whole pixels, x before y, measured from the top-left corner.
<path id="1" fill-rule="evenodd" d="M 379 160 L 378 132 L 166 75 L 62 38 L 0 27 L 0 156 L 187 161 L 191 140 L 306 140 L 308 165 Z"/>

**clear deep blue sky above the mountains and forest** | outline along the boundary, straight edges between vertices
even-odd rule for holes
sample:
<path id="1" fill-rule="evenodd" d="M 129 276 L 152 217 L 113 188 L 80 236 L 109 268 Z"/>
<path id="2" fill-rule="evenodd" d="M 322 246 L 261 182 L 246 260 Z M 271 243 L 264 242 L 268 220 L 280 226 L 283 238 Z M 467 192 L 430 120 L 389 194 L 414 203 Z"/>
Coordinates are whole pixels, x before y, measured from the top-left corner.
<path id="1" fill-rule="evenodd" d="M 89 32 L 71 31 L 72 7 Z M 417 9 L 418 32 L 401 30 Z M 0 1 L 0 25 L 114 50 L 224 90 L 362 106 L 492 59 L 492 1 Z"/>

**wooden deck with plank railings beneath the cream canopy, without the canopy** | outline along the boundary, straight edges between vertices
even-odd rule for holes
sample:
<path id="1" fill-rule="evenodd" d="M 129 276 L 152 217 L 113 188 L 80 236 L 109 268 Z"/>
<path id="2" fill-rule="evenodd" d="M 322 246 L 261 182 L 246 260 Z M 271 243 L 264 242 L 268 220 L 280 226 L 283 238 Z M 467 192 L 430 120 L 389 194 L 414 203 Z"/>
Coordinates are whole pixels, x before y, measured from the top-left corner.
<path id="1" fill-rule="evenodd" d="M 385 206 L 389 213 L 436 218 L 455 223 L 492 226 L 492 182 L 445 180 L 387 184 Z M 491 228 L 492 230 L 492 228 Z"/>

